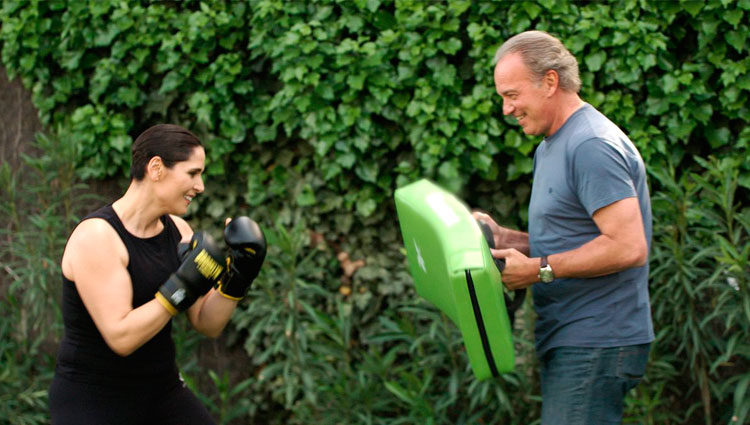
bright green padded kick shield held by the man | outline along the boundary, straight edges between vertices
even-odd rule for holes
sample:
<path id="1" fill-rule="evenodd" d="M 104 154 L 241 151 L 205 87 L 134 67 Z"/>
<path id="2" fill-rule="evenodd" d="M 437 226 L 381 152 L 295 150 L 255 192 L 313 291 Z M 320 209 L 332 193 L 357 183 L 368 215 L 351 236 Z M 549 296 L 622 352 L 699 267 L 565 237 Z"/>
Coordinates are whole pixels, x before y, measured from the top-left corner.
<path id="1" fill-rule="evenodd" d="M 394 196 L 417 293 L 458 326 L 477 379 L 513 370 L 502 278 L 467 206 L 426 179 Z"/>

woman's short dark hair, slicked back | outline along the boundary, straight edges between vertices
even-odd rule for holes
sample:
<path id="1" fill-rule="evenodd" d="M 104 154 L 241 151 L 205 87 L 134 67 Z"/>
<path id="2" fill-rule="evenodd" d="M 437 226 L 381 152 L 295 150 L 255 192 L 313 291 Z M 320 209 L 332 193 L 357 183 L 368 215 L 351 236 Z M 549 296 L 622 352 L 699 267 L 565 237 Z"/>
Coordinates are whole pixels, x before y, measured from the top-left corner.
<path id="1" fill-rule="evenodd" d="M 165 167 L 172 168 L 175 163 L 187 160 L 198 146 L 203 146 L 201 141 L 179 125 L 158 124 L 150 127 L 133 142 L 130 178 L 143 180 L 146 165 L 155 156 L 161 158 Z"/>

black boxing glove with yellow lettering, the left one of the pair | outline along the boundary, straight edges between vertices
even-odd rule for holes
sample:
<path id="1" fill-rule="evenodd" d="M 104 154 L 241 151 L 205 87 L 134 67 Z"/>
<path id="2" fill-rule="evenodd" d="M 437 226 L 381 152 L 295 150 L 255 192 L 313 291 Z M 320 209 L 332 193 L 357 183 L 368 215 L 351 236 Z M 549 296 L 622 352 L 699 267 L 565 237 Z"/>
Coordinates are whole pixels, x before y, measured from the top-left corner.
<path id="1" fill-rule="evenodd" d="M 164 282 L 155 297 L 173 316 L 187 310 L 225 273 L 224 258 L 213 238 L 195 232 L 180 267 Z"/>

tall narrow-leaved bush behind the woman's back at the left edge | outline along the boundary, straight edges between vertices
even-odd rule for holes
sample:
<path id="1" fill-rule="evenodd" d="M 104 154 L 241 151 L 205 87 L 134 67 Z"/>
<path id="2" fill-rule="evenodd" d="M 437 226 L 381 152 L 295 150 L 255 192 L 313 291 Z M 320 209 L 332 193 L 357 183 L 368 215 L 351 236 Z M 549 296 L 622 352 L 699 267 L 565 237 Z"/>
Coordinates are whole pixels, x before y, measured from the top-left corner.
<path id="1" fill-rule="evenodd" d="M 37 156 L 0 166 L 0 423 L 44 424 L 61 336 L 60 257 L 91 196 L 74 173 L 74 149 L 39 134 Z"/>

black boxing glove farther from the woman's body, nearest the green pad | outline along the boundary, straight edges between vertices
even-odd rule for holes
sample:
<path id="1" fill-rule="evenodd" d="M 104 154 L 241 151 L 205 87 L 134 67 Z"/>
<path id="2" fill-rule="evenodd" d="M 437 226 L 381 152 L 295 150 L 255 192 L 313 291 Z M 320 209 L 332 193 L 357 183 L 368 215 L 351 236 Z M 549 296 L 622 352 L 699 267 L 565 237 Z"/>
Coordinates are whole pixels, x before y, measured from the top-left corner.
<path id="1" fill-rule="evenodd" d="M 239 301 L 258 276 L 266 258 L 266 238 L 258 223 L 241 216 L 230 221 L 224 229 L 224 241 L 229 247 L 227 268 L 217 284 L 219 293 Z"/>

